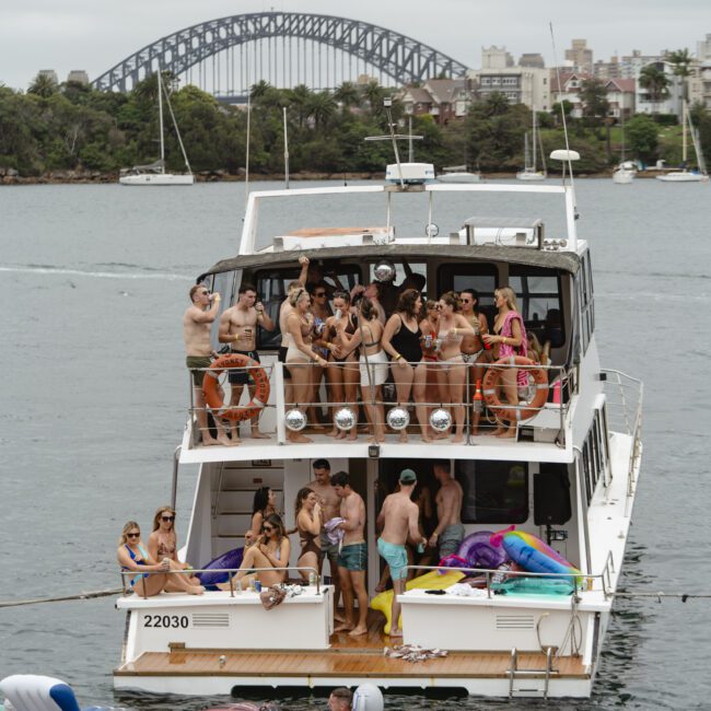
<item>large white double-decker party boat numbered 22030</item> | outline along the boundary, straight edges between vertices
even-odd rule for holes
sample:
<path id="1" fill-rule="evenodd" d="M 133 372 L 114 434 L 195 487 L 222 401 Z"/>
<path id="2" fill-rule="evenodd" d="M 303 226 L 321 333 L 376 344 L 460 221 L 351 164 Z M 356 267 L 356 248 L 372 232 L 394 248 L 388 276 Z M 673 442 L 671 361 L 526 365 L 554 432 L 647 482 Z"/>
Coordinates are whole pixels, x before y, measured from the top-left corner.
<path id="1" fill-rule="evenodd" d="M 508 206 L 517 217 L 480 212 L 492 203 Z M 551 214 L 562 219 L 550 220 L 561 226 L 555 237 L 547 237 L 547 210 L 553 208 Z M 362 225 L 376 226 L 346 226 L 352 215 L 359 215 Z M 126 625 L 113 673 L 115 688 L 218 696 L 237 693 L 243 686 L 352 687 L 366 678 L 388 689 L 452 687 L 487 697 L 590 697 L 637 494 L 642 384 L 601 366 L 591 245 L 579 237 L 580 224 L 570 185 L 393 183 L 250 193 L 235 256 L 201 277 L 209 289 L 222 292 L 223 307 L 235 303 L 240 285 L 249 282 L 278 322 L 283 285 L 298 272 L 301 255 L 328 265 L 325 278 L 348 285 L 369 282 L 378 273 L 394 272 L 399 280 L 406 260 L 426 278 L 429 298 L 464 289 L 476 279 L 486 308 L 494 287 L 523 284 L 520 310 L 527 328 L 548 343 L 551 364 L 534 371 L 537 404 L 520 405 L 518 415 L 509 415 L 520 418 L 515 439 L 502 440 L 485 429 L 459 443 L 424 443 L 411 431 L 407 444 L 395 430 L 387 431 L 382 444 L 369 443 L 363 432 L 351 441 L 315 431 L 308 443 L 292 442 L 289 429 L 304 423 L 306 404 L 301 409 L 287 400 L 275 334 L 260 331 L 258 340 L 260 377 L 270 384 L 259 426 L 269 439 L 245 438 L 240 446 L 198 445 L 191 388 L 184 373 L 176 372 L 176 382 L 185 380 L 188 418 L 175 456 L 173 502 L 184 486 L 182 469 L 189 469 L 193 481 L 198 465 L 185 560 L 205 568 L 244 545 L 258 487 L 277 493 L 277 508 L 292 528 L 295 494 L 312 478 L 312 463 L 324 457 L 331 471 L 350 474 L 365 502 L 366 586 L 372 605 L 389 610 L 389 603 L 375 594 L 382 570 L 374 545 L 382 489 L 404 466 L 424 475 L 433 462 L 443 459 L 464 489 L 461 515 L 467 536 L 493 547 L 499 539 L 491 533 L 514 525 L 552 549 L 544 548 L 550 555 L 544 553 L 543 563 L 550 562 L 555 551 L 580 572 L 566 568 L 541 582 L 478 559 L 477 570 L 469 572 L 480 576 L 482 587 L 470 596 L 454 594 L 446 585 L 439 595 L 409 588 L 398 596 L 404 643 L 448 653 L 418 664 L 383 654 L 397 640 L 384 634 L 381 613 L 371 613 L 369 632 L 360 638 L 334 632 L 327 561 L 325 578 L 314 575 L 300 591 L 291 588 L 299 594 L 270 610 L 256 592 L 241 590 L 120 596 L 116 608 L 126 615 Z M 594 232 L 594 225 L 588 230 Z M 381 269 L 383 260 L 395 269 Z M 500 376 L 489 364 L 483 368 L 493 381 Z M 214 368 L 212 372 L 218 375 Z M 470 373 L 468 369 L 467 377 Z M 229 401 L 229 393 L 224 396 Z M 397 416 L 388 422 L 406 424 L 407 410 L 397 411 L 388 388 L 384 397 L 384 406 Z M 322 391 L 322 404 L 333 399 Z M 340 412 L 339 426 L 358 418 L 356 403 L 336 404 L 351 408 Z M 441 403 L 431 406 L 431 422 L 446 430 L 448 412 Z M 490 403 L 490 412 L 497 411 L 496 401 Z M 467 421 L 470 416 L 467 408 Z M 292 571 L 298 549 L 292 546 Z M 504 552 L 514 556 L 508 548 Z M 456 571 L 448 574 L 461 576 Z M 497 582 L 498 576 L 504 580 Z"/>

